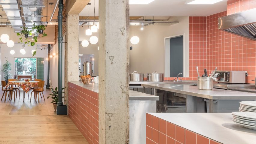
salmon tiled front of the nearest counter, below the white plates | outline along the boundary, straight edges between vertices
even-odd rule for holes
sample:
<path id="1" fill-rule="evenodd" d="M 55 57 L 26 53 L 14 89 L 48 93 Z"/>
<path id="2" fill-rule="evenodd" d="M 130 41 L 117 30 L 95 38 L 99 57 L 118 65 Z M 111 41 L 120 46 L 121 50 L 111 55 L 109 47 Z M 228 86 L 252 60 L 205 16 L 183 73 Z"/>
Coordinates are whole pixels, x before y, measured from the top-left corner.
<path id="1" fill-rule="evenodd" d="M 221 144 L 163 119 L 146 114 L 146 144 Z"/>

